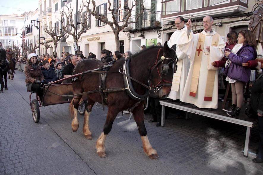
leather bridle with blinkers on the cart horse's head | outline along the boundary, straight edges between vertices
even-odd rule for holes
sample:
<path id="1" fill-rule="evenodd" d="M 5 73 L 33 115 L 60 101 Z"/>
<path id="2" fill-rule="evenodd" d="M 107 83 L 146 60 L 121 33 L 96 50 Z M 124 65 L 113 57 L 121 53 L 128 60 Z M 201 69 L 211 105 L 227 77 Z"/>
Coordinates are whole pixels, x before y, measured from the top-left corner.
<path id="1" fill-rule="evenodd" d="M 159 57 L 159 54 L 160 54 L 160 51 L 161 51 L 162 48 L 159 49 L 158 51 L 158 54 L 157 54 L 157 57 L 156 57 L 156 61 L 153 65 L 153 67 L 150 69 L 150 71 L 152 72 L 153 69 L 156 67 L 157 68 L 157 72 L 158 72 L 158 75 L 160 77 L 160 81 L 154 85 L 153 84 L 153 87 L 155 88 L 154 89 L 154 92 L 157 92 L 159 91 L 160 89 L 162 89 L 162 86 L 172 86 L 172 81 L 167 81 L 167 80 L 164 80 L 162 78 L 162 75 L 167 75 L 168 71 L 169 71 L 169 64 L 170 63 L 173 63 L 174 64 L 174 73 L 176 72 L 177 70 L 177 62 L 178 62 L 178 58 L 176 56 L 176 52 L 175 52 L 175 49 L 171 48 L 174 53 L 175 53 L 175 58 L 168 58 L 168 57 L 165 57 L 164 54 L 161 56 L 161 59 L 158 60 L 158 57 Z M 168 64 L 164 64 L 164 60 L 171 60 Z M 161 73 L 158 69 L 158 65 L 161 63 Z M 161 84 L 161 82 L 165 82 L 166 84 Z M 160 85 L 161 84 L 161 85 Z"/>

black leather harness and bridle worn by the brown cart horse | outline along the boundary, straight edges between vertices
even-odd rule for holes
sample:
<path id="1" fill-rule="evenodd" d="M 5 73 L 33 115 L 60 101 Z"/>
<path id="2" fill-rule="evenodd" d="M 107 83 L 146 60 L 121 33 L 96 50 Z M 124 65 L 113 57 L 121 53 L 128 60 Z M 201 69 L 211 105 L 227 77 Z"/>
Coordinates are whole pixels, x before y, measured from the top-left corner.
<path id="1" fill-rule="evenodd" d="M 93 90 L 93 91 L 88 91 L 88 92 L 82 92 L 82 93 L 75 94 L 75 95 L 66 95 L 66 96 L 67 97 L 73 96 L 75 99 L 79 99 L 80 97 L 76 97 L 76 96 L 80 96 L 80 95 L 83 95 L 83 94 L 91 94 L 91 93 L 99 92 L 100 96 L 102 98 L 102 108 L 104 110 L 104 104 L 106 104 L 106 105 L 108 104 L 107 103 L 107 94 L 108 93 L 126 91 L 127 94 L 129 95 L 129 97 L 131 97 L 132 99 L 138 101 L 132 107 L 127 109 L 129 111 L 133 111 L 135 107 L 137 107 L 143 100 L 145 100 L 147 97 L 149 97 L 149 94 L 150 94 L 151 90 L 154 90 L 154 92 L 157 92 L 157 91 L 159 91 L 162 88 L 162 86 L 171 86 L 172 85 L 172 82 L 164 80 L 162 78 L 162 75 L 167 75 L 167 73 L 169 71 L 169 64 L 171 64 L 171 63 L 175 63 L 174 72 L 176 72 L 176 69 L 177 69 L 176 63 L 178 61 L 178 58 L 176 57 L 176 54 L 175 54 L 175 58 L 166 58 L 166 57 L 164 57 L 164 55 L 162 55 L 161 59 L 158 60 L 160 50 L 161 50 L 161 48 L 158 51 L 155 64 L 150 69 L 150 71 L 153 71 L 153 69 L 155 67 L 157 67 L 161 63 L 161 70 L 159 70 L 158 67 L 157 67 L 157 72 L 159 74 L 160 81 L 158 82 L 158 84 L 153 85 L 153 87 L 155 89 L 152 89 L 152 87 L 150 87 L 149 84 L 144 84 L 144 83 L 142 83 L 142 82 L 140 82 L 140 81 L 138 81 L 135 78 L 130 76 L 129 63 L 131 61 L 131 58 L 127 58 L 124 61 L 124 63 L 123 63 L 123 68 L 121 68 L 118 72 L 108 71 L 109 68 L 112 67 L 113 64 L 116 62 L 116 60 L 113 60 L 113 61 L 107 63 L 106 65 L 99 66 L 99 68 L 97 68 L 97 69 L 87 70 L 87 71 L 84 71 L 82 73 L 78 73 L 78 74 L 74 75 L 75 77 L 72 79 L 72 82 L 73 81 L 79 81 L 83 77 L 83 75 L 86 74 L 86 73 L 91 73 L 91 72 L 99 73 L 99 89 L 96 89 L 96 90 Z M 164 60 L 165 59 L 171 60 L 171 61 L 168 64 L 164 64 Z M 73 72 L 75 72 L 75 69 L 74 69 Z M 119 87 L 118 88 L 107 88 L 106 85 L 105 85 L 106 84 L 107 73 L 121 73 L 123 75 L 123 80 L 124 80 L 124 86 L 125 87 L 124 88 L 119 88 Z M 132 81 L 131 80 L 137 82 L 138 84 L 140 84 L 140 85 L 142 85 L 142 86 L 144 86 L 146 88 L 146 92 L 145 92 L 144 95 L 137 94 L 137 92 L 134 90 L 134 87 L 132 85 Z M 166 84 L 162 84 L 162 86 L 161 86 L 160 85 L 161 82 L 165 82 Z M 50 86 L 50 84 L 49 84 L 49 86 Z M 53 92 L 51 92 L 51 93 L 53 93 Z M 56 94 L 56 95 L 59 95 L 59 94 Z"/>

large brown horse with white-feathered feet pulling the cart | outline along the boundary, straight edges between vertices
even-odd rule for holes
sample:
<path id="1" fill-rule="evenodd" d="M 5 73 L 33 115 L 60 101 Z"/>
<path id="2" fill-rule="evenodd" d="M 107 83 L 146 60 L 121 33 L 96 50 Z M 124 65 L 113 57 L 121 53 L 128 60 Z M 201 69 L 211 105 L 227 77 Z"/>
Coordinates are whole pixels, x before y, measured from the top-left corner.
<path id="1" fill-rule="evenodd" d="M 152 82 L 153 89 L 155 88 L 155 91 L 159 90 L 159 98 L 161 99 L 166 98 L 171 90 L 171 81 L 174 72 L 172 69 L 172 65 L 174 64 L 174 62 L 176 64 L 175 60 L 177 60 L 175 59 L 176 46 L 173 46 L 172 48 L 174 49 L 169 48 L 167 46 L 167 43 L 165 42 L 164 47 L 153 46 L 129 58 L 130 76 L 143 84 L 147 84 L 150 80 Z M 107 73 L 107 79 L 105 82 L 107 88 L 121 89 L 125 87 L 124 78 L 126 77 L 123 76 L 123 74 L 119 73 L 119 70 L 121 71 L 123 68 L 124 62 L 124 59 L 117 60 L 108 70 L 111 73 Z M 84 72 L 86 70 L 96 69 L 98 68 L 98 65 L 104 64 L 105 63 L 90 59 L 82 60 L 76 65 L 75 74 Z M 176 67 L 176 65 L 174 65 L 174 67 Z M 163 71 L 163 69 L 165 70 Z M 73 81 L 72 86 L 74 94 L 96 90 L 99 88 L 99 74 L 94 72 L 87 73 L 83 77 L 79 78 L 79 80 Z M 147 89 L 142 84 L 132 81 L 132 85 L 130 84 L 130 87 L 131 86 L 135 91 L 134 93 L 137 93 L 137 96 L 145 97 L 145 94 L 147 94 L 145 93 Z M 71 125 L 73 132 L 76 132 L 79 127 L 79 121 L 77 119 L 77 109 L 81 98 L 82 100 L 88 100 L 88 103 L 85 106 L 83 133 L 87 139 L 93 139 L 88 124 L 89 116 L 91 114 L 91 108 L 93 107 L 94 103 L 102 103 L 102 97 L 99 92 L 85 94 L 82 96 L 74 96 L 74 99 L 69 105 L 69 110 L 73 118 Z M 111 131 L 113 121 L 117 114 L 120 111 L 133 107 L 134 104 L 136 104 L 137 102 L 138 100 L 131 98 L 125 90 L 107 94 L 108 113 L 106 123 L 104 124 L 102 134 L 99 136 L 96 142 L 97 154 L 100 157 L 106 157 L 104 147 L 105 139 L 107 137 L 107 134 L 109 134 Z M 156 150 L 153 149 L 147 137 L 147 131 L 145 129 L 143 119 L 143 102 L 135 107 L 132 113 L 139 129 L 145 154 L 153 160 L 159 159 Z"/>

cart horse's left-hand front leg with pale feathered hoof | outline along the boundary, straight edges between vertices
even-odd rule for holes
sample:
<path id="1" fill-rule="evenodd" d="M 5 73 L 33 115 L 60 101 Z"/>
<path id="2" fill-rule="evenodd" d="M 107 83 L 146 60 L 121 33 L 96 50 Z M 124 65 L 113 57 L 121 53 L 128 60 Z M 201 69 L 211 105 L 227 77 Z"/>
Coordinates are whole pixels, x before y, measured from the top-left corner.
<path id="1" fill-rule="evenodd" d="M 111 131 L 113 121 L 116 118 L 118 113 L 119 111 L 116 108 L 109 106 L 106 122 L 103 128 L 103 132 L 100 134 L 99 139 L 96 142 L 97 154 L 101 158 L 104 158 L 107 156 L 105 153 L 105 147 L 104 147 L 105 140 L 106 140 L 107 134 L 109 134 Z"/>

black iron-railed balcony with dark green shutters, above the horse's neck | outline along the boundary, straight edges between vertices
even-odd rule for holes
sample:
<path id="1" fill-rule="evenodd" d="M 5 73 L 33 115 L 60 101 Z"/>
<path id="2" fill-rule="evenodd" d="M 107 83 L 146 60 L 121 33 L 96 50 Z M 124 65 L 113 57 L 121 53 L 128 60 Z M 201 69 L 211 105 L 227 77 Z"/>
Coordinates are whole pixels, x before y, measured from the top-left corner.
<path id="1" fill-rule="evenodd" d="M 136 22 L 137 15 L 131 16 L 129 21 Z M 161 28 L 161 12 L 146 11 L 138 18 L 136 23 L 130 23 L 124 32 L 137 32 L 149 29 L 160 29 Z"/>

